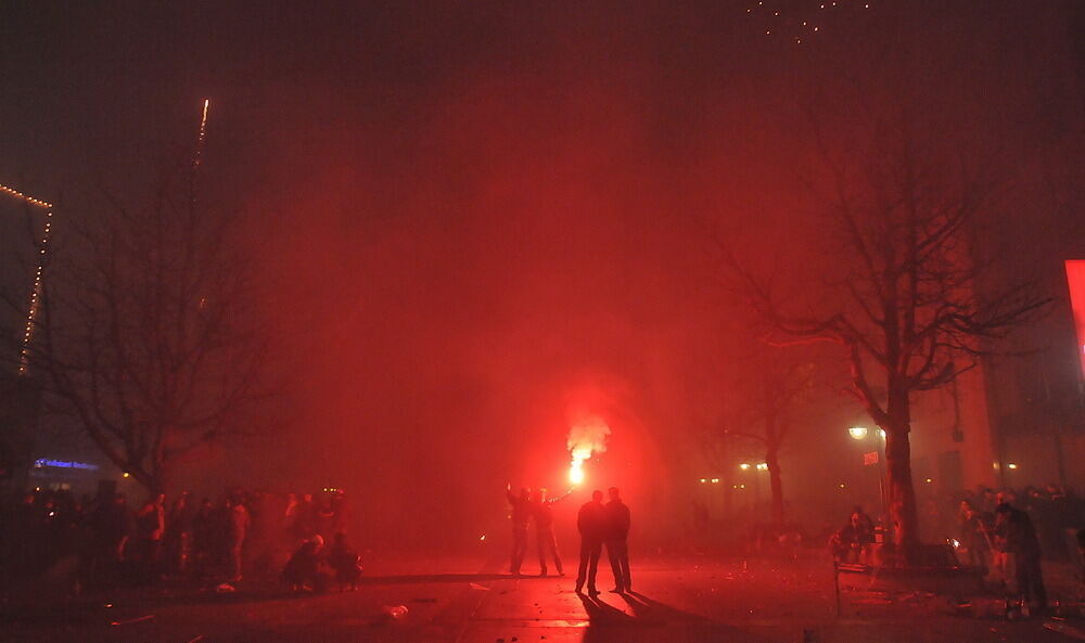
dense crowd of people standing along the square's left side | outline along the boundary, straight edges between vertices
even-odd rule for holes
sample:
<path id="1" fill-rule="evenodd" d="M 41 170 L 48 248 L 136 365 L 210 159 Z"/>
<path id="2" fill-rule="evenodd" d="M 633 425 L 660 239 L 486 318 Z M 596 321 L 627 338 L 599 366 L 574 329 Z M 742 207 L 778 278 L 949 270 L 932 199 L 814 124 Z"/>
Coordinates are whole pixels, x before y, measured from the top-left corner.
<path id="1" fill-rule="evenodd" d="M 190 492 L 158 493 L 137 505 L 112 490 L 81 499 L 67 490 L 36 490 L 0 507 L 0 564 L 13 577 L 31 577 L 74 558 L 77 587 L 166 579 L 235 583 L 245 574 L 281 574 L 292 587 L 314 589 L 327 584 L 321 579 L 329 569 L 354 584 L 360 564 L 346 540 L 347 506 L 341 490 L 237 489 L 217 502 Z M 311 565 L 297 564 L 303 550 Z"/>

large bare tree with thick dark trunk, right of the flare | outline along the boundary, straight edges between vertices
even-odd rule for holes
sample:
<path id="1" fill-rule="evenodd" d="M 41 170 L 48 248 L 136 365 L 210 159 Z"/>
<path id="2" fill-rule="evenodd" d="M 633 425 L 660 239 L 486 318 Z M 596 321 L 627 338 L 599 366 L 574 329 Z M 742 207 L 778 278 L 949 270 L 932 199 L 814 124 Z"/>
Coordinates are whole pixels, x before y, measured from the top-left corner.
<path id="1" fill-rule="evenodd" d="M 889 513 L 914 560 L 914 396 L 973 368 L 1047 299 L 1021 281 L 984 280 L 993 263 L 976 246 L 1001 183 L 980 159 L 949 162 L 923 144 L 906 116 L 880 120 L 869 149 L 822 155 L 832 258 L 810 288 L 816 299 L 784 303 L 773 281 L 722 247 L 770 343 L 831 342 L 844 351 L 850 393 L 885 430 Z"/>

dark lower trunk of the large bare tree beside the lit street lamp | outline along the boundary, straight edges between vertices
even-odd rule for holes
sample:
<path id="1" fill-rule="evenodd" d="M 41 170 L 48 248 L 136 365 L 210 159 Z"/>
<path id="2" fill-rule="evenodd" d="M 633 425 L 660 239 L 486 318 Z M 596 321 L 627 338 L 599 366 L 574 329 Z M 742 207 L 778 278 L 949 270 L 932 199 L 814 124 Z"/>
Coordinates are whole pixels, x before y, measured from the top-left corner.
<path id="1" fill-rule="evenodd" d="M 910 426 L 907 421 L 890 421 L 885 429 L 886 501 L 893 541 L 905 563 L 915 563 L 919 545 L 919 513 L 911 483 Z"/>

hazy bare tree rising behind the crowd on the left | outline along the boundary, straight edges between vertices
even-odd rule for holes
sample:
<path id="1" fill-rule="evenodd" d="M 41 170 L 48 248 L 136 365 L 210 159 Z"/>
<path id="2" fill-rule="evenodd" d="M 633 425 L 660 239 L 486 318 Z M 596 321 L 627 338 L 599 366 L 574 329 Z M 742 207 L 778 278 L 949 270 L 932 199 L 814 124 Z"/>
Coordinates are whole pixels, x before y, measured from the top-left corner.
<path id="1" fill-rule="evenodd" d="M 104 194 L 65 218 L 31 356 L 58 408 L 155 491 L 186 453 L 254 430 L 263 396 L 240 219 L 200 204 L 192 172 L 164 171 L 145 206 Z"/>

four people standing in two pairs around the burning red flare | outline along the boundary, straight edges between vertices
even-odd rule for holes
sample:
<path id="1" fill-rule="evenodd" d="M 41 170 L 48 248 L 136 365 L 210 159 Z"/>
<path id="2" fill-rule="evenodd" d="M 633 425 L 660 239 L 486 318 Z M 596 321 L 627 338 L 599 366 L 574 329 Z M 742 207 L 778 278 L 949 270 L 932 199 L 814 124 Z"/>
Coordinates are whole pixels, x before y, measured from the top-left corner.
<path id="1" fill-rule="evenodd" d="M 553 504 L 564 500 L 572 493 L 550 498 L 546 489 L 539 489 L 532 497 L 531 489 L 521 489 L 520 494 L 512 493 L 508 488 L 509 503 L 512 505 L 512 561 L 509 571 L 520 575 L 520 566 L 527 553 L 527 531 L 529 522 L 535 519 L 536 542 L 539 552 L 539 576 L 547 575 L 547 560 L 553 558 L 553 566 L 559 576 L 565 573 L 558 554 L 558 540 L 553 533 Z M 576 517 L 576 528 L 580 532 L 580 565 L 576 575 L 576 592 L 584 591 L 585 582 L 588 593 L 596 595 L 596 573 L 599 568 L 599 557 L 603 544 L 610 558 L 611 570 L 614 573 L 614 589 L 612 592 L 628 592 L 631 589 L 629 576 L 629 507 L 622 502 L 617 487 L 609 489 L 610 502 L 603 504 L 603 492 L 591 492 L 591 501 L 585 503 Z"/>

